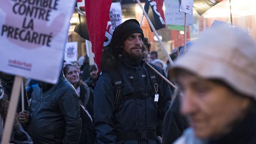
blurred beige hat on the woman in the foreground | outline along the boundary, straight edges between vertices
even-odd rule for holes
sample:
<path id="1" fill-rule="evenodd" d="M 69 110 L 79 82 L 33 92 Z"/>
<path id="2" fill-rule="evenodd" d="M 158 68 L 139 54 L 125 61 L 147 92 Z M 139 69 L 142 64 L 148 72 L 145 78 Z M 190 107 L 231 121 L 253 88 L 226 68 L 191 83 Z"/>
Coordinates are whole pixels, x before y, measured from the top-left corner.
<path id="1" fill-rule="evenodd" d="M 256 100 L 256 45 L 240 28 L 209 29 L 180 56 L 172 67 L 207 79 L 219 79 L 238 92 Z"/>

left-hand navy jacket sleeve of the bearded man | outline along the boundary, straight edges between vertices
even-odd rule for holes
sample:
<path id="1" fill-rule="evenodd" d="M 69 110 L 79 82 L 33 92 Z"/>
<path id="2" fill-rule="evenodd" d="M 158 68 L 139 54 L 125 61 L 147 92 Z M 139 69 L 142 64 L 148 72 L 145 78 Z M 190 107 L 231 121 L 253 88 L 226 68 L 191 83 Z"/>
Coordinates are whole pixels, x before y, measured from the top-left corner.
<path id="1" fill-rule="evenodd" d="M 99 144 L 116 144 L 113 132 L 114 86 L 108 73 L 103 73 L 94 89 L 94 128 Z"/>

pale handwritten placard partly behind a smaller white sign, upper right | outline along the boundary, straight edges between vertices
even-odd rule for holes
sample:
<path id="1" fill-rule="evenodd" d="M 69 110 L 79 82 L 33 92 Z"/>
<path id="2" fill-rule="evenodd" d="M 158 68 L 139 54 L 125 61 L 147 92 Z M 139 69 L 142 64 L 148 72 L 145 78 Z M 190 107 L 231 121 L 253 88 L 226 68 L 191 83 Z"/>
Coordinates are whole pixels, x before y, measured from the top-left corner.
<path id="1" fill-rule="evenodd" d="M 180 6 L 178 0 L 164 0 L 165 6 L 165 22 L 168 25 L 184 26 L 183 12 L 179 12 Z M 186 15 L 186 25 L 191 26 L 193 24 L 193 14 Z"/>

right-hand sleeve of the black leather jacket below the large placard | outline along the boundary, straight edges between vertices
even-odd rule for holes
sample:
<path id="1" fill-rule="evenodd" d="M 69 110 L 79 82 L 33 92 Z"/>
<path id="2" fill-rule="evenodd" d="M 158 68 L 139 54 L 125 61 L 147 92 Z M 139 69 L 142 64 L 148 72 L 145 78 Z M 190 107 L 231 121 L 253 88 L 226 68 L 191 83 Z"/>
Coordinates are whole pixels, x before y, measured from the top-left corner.
<path id="1" fill-rule="evenodd" d="M 82 130 L 78 95 L 73 88 L 67 88 L 58 99 L 60 113 L 65 119 L 63 144 L 77 144 Z"/>

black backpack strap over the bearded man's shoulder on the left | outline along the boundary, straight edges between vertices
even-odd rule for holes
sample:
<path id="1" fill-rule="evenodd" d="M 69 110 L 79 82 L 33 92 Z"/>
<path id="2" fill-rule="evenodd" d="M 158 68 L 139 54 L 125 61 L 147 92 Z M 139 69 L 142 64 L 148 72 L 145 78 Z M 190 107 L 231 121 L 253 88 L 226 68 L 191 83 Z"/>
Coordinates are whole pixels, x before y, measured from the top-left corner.
<path id="1" fill-rule="evenodd" d="M 118 68 L 111 68 L 108 70 L 108 74 L 114 81 L 114 91 L 115 91 L 115 110 L 119 107 L 122 95 L 123 95 L 123 83 L 122 78 L 118 72 Z"/>

